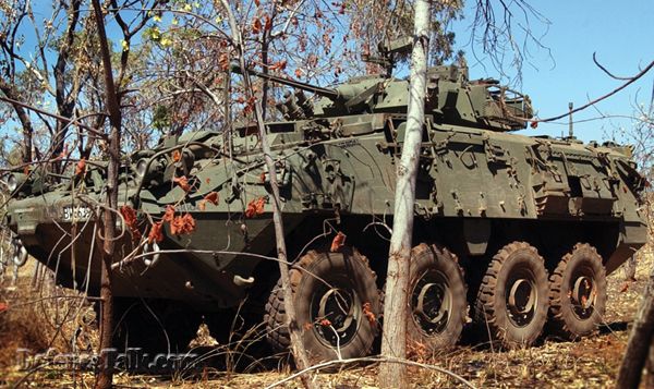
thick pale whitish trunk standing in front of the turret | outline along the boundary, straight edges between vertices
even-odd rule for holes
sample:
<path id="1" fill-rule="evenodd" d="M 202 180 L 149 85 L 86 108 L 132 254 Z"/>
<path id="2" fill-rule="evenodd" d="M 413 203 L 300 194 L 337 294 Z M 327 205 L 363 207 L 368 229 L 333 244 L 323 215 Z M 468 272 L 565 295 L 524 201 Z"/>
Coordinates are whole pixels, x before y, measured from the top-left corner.
<path id="1" fill-rule="evenodd" d="M 401 358 L 407 356 L 409 267 L 413 235 L 415 175 L 425 122 L 429 7 L 429 0 L 415 1 L 407 133 L 402 146 L 402 157 L 397 168 L 395 215 L 386 279 L 382 354 Z M 407 366 L 383 363 L 379 366 L 378 382 L 383 388 L 405 388 Z"/>

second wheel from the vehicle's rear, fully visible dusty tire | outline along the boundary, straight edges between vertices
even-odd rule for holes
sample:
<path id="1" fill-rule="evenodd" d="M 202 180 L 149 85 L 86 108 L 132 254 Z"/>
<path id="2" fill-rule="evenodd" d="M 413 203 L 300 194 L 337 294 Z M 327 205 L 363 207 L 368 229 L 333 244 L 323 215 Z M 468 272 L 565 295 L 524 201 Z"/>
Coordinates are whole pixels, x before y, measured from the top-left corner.
<path id="1" fill-rule="evenodd" d="M 491 260 L 475 303 L 480 330 L 508 349 L 534 343 L 547 320 L 549 284 L 543 257 L 524 242 Z"/>

